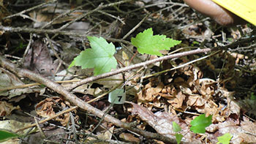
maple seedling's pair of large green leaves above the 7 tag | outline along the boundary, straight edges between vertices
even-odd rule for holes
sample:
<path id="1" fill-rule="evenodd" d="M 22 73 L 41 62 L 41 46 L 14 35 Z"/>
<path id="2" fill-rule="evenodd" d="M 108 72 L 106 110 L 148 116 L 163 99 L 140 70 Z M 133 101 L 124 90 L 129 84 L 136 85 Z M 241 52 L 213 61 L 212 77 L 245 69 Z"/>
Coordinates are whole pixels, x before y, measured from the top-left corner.
<path id="1" fill-rule="evenodd" d="M 73 66 L 81 66 L 82 69 L 94 68 L 94 75 L 110 72 L 111 69 L 115 69 L 117 61 L 113 56 L 116 50 L 113 43 L 108 43 L 102 37 L 87 38 L 91 48 L 83 50 L 79 56 L 74 58 L 69 68 Z M 152 29 L 147 29 L 137 34 L 135 38 L 132 37 L 132 45 L 138 48 L 139 53 L 157 56 L 162 56 L 159 50 L 170 50 L 171 47 L 179 43 L 181 41 L 166 38 L 165 35 L 153 36 Z"/>

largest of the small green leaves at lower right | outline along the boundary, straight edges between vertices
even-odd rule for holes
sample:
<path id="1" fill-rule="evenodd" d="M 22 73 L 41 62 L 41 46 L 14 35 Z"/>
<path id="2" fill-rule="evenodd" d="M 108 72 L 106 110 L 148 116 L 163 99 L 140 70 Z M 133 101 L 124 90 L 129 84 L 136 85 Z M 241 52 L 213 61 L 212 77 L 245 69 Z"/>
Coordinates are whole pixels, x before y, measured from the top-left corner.
<path id="1" fill-rule="evenodd" d="M 212 115 L 206 117 L 206 114 L 197 116 L 193 121 L 191 121 L 190 130 L 196 134 L 205 133 L 206 127 L 211 124 Z"/>

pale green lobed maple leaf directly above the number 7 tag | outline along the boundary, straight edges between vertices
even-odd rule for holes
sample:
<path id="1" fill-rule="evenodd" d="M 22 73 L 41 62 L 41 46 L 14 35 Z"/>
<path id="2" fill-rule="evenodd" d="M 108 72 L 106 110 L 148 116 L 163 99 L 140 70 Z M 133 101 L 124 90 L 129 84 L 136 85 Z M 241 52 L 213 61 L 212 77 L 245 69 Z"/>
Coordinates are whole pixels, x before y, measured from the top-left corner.
<path id="1" fill-rule="evenodd" d="M 94 75 L 110 72 L 117 66 L 116 58 L 113 56 L 116 52 L 112 42 L 108 43 L 102 37 L 87 37 L 91 48 L 83 50 L 79 56 L 74 58 L 69 68 L 72 66 L 81 66 L 82 69 L 94 68 Z"/>

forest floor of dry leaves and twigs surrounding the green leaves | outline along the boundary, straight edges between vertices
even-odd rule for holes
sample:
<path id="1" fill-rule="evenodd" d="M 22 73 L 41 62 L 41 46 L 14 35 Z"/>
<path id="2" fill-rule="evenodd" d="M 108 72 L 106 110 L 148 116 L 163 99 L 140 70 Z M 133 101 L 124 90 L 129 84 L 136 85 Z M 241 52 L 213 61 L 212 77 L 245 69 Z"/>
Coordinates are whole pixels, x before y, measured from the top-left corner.
<path id="1" fill-rule="evenodd" d="M 24 134 L 10 143 L 175 143 L 173 121 L 183 143 L 217 143 L 226 133 L 232 143 L 256 142 L 254 26 L 222 27 L 183 1 L 165 0 L 1 1 L 0 12 L 0 126 Z M 90 48 L 87 36 L 121 48 L 117 69 L 157 58 L 136 53 L 130 42 L 148 28 L 182 41 L 165 55 L 212 50 L 89 83 L 81 80 L 92 69 L 67 72 Z M 117 87 L 126 89 L 124 105 L 108 102 Z M 213 124 L 194 134 L 189 123 L 202 113 Z M 36 121 L 42 124 L 30 129 Z"/>

